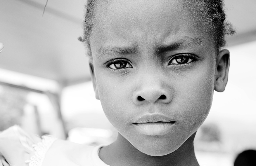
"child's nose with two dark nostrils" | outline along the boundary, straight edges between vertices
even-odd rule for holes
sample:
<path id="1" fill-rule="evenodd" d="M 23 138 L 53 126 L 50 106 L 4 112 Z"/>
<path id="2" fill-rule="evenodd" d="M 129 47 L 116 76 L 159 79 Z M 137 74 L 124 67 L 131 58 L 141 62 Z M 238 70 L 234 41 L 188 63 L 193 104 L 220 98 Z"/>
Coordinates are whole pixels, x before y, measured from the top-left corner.
<path id="1" fill-rule="evenodd" d="M 158 71 L 141 72 L 138 78 L 138 87 L 133 95 L 135 104 L 171 101 L 171 92 L 164 82 L 164 76 Z"/>

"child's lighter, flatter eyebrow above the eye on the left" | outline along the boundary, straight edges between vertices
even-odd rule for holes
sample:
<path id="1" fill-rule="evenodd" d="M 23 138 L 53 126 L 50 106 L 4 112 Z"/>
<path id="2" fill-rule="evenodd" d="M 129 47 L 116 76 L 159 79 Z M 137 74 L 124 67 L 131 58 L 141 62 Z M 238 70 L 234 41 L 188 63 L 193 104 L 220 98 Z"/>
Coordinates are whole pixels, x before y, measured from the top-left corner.
<path id="1" fill-rule="evenodd" d="M 125 54 L 137 54 L 139 53 L 139 48 L 138 46 L 131 46 L 131 47 L 111 47 L 111 46 L 106 46 L 106 47 L 101 47 L 98 50 L 98 55 L 97 57 L 101 59 L 105 55 L 125 55 Z"/>

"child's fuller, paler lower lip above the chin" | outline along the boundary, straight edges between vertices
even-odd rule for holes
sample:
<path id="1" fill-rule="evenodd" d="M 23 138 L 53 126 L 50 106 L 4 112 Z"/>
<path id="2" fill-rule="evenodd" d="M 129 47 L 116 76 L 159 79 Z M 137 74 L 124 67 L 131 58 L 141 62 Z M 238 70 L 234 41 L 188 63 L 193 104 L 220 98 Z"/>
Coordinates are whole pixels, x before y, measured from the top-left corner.
<path id="1" fill-rule="evenodd" d="M 175 122 L 134 123 L 136 129 L 146 135 L 164 135 L 172 130 Z"/>

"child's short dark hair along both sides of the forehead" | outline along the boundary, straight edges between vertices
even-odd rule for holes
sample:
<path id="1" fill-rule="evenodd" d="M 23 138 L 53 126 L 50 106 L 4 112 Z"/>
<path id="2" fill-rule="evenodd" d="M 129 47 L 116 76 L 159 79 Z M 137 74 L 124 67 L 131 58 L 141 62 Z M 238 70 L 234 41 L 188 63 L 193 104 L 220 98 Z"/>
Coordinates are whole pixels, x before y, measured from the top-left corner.
<path id="1" fill-rule="evenodd" d="M 80 41 L 85 42 L 89 57 L 91 57 L 89 37 L 95 22 L 97 1 L 99 0 L 87 0 L 84 15 L 84 35 L 83 39 L 81 37 L 79 38 Z M 206 16 L 206 24 L 210 25 L 213 32 L 216 49 L 221 50 L 226 44 L 225 36 L 235 33 L 231 23 L 226 21 L 226 14 L 223 9 L 223 0 L 188 0 L 187 2 L 188 3 L 186 3 L 186 5 L 191 4 L 191 6 L 197 6 L 199 11 Z M 191 8 L 191 10 L 193 10 L 193 8 Z"/>

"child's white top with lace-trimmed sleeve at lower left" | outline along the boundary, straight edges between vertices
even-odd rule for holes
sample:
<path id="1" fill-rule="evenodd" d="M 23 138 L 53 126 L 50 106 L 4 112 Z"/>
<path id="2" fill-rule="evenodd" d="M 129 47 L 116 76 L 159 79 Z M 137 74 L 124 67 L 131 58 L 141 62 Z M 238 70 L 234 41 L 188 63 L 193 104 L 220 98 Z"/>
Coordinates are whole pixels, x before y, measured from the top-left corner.
<path id="1" fill-rule="evenodd" d="M 13 126 L 0 133 L 0 166 L 109 166 L 99 157 L 102 147 L 76 144 L 49 135 L 41 139 Z"/>

